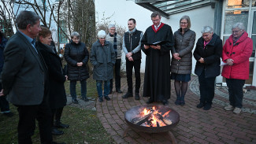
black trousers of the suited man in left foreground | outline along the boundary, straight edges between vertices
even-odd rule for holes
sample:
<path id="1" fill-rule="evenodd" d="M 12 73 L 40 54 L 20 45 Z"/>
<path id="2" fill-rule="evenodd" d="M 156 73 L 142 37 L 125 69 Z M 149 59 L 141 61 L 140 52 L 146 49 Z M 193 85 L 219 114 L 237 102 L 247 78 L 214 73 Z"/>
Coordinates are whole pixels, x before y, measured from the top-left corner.
<path id="1" fill-rule="evenodd" d="M 35 120 L 38 120 L 41 143 L 53 141 L 51 135 L 51 112 L 49 105 L 42 102 L 40 105 L 16 105 L 19 113 L 18 143 L 32 144 L 32 135 L 35 131 Z"/>

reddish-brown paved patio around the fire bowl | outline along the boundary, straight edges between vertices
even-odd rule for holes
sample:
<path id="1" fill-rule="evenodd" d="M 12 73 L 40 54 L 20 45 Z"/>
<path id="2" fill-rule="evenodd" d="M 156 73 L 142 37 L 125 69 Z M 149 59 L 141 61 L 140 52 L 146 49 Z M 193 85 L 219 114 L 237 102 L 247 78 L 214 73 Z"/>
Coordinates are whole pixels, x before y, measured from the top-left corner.
<path id="1" fill-rule="evenodd" d="M 143 76 L 142 76 L 143 83 Z M 126 79 L 121 79 L 121 90 L 127 92 Z M 197 109 L 198 82 L 197 77 L 191 77 L 191 83 L 185 98 L 186 105 L 176 106 L 173 81 L 171 81 L 171 98 L 169 107 L 180 113 L 180 123 L 173 128 L 173 135 L 178 143 L 256 143 L 256 115 L 254 90 L 248 91 L 244 98 L 244 109 L 240 114 L 224 111 L 228 104 L 228 93 L 225 87 L 216 90 L 212 109 L 205 111 Z M 142 94 L 143 85 L 140 89 Z M 147 98 L 136 101 L 135 98 L 123 99 L 123 94 L 113 92 L 111 101 L 96 102 L 99 120 L 116 143 L 172 143 L 168 133 L 150 134 L 132 130 L 124 121 L 124 113 L 136 105 L 146 105 Z M 162 105 L 161 103 L 154 103 Z M 124 131 L 127 135 L 124 136 Z"/>

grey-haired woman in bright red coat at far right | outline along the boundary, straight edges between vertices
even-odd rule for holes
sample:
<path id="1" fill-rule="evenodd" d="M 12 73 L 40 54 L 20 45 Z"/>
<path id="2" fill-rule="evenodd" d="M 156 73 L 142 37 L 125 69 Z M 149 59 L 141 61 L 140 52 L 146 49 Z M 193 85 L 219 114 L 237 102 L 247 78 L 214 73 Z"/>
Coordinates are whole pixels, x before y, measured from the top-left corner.
<path id="1" fill-rule="evenodd" d="M 243 107 L 243 85 L 249 79 L 249 58 L 253 50 L 253 41 L 244 30 L 243 23 L 232 26 L 232 35 L 223 46 L 222 60 L 224 65 L 222 76 L 226 78 L 229 93 L 229 105 L 225 110 L 240 113 Z"/>

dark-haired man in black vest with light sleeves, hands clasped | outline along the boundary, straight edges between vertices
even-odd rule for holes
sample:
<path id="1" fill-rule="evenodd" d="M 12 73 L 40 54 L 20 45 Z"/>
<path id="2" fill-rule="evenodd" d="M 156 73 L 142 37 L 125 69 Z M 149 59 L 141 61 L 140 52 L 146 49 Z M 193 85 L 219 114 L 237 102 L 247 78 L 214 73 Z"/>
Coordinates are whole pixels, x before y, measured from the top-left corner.
<path id="1" fill-rule="evenodd" d="M 132 97 L 132 68 L 135 71 L 135 100 L 139 100 L 140 87 L 140 63 L 141 63 L 141 39 L 143 31 L 138 31 L 136 28 L 135 19 L 128 20 L 129 31 L 124 33 L 123 50 L 126 60 L 126 75 L 128 83 L 128 92 L 122 98 Z"/>

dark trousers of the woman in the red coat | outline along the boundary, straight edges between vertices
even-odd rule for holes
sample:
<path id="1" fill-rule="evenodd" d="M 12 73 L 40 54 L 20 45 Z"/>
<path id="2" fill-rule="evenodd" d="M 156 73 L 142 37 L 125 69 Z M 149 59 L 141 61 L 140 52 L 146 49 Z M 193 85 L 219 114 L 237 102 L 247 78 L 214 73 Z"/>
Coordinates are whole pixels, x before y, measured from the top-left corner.
<path id="1" fill-rule="evenodd" d="M 230 105 L 237 108 L 243 107 L 244 79 L 226 79 Z"/>

